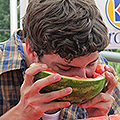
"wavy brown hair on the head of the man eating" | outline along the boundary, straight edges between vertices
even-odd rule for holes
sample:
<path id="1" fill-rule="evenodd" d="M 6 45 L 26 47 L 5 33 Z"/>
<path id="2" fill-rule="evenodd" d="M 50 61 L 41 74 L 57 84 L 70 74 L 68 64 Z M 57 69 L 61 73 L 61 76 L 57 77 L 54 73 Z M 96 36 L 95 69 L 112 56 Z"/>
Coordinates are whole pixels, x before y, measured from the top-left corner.
<path id="1" fill-rule="evenodd" d="M 94 0 L 32 0 L 23 17 L 24 37 L 39 57 L 67 61 L 104 50 L 108 31 Z"/>

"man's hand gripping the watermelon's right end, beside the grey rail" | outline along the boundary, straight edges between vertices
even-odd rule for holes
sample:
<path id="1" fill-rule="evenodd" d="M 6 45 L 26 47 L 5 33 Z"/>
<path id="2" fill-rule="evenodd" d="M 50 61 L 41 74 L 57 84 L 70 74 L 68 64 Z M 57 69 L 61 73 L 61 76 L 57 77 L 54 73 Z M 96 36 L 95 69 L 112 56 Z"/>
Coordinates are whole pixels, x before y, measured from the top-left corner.
<path id="1" fill-rule="evenodd" d="M 78 104 L 79 107 L 86 108 L 89 117 L 106 116 L 114 102 L 111 94 L 117 81 L 113 67 L 109 65 L 105 66 L 105 76 L 109 82 L 103 91 L 86 103 Z"/>

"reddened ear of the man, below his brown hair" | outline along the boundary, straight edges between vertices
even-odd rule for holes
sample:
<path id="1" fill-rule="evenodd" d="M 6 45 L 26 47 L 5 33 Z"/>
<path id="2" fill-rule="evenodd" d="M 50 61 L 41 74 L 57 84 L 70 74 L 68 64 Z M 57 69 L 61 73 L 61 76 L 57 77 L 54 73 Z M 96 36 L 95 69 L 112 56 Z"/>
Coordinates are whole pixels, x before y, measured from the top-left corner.
<path id="1" fill-rule="evenodd" d="M 26 38 L 26 52 L 27 52 L 27 55 L 32 62 L 36 63 L 38 61 L 37 54 L 36 54 L 36 52 L 32 51 L 32 48 L 29 45 L 28 41 L 29 41 L 29 39 Z"/>

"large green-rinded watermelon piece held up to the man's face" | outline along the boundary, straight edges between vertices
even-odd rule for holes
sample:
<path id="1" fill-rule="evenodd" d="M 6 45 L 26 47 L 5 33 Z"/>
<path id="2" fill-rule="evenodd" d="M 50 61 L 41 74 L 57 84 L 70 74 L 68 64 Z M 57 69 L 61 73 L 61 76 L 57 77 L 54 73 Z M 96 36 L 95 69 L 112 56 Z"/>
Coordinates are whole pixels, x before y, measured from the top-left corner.
<path id="1" fill-rule="evenodd" d="M 56 72 L 52 71 L 51 69 L 41 71 L 35 76 L 35 80 L 47 77 L 55 73 Z M 87 100 L 95 97 L 98 93 L 100 93 L 105 85 L 105 80 L 106 78 L 102 75 L 97 75 L 96 78 L 80 78 L 78 76 L 68 77 L 61 75 L 60 81 L 44 87 L 40 90 L 40 93 L 47 93 L 66 87 L 71 87 L 72 93 L 65 97 L 58 98 L 57 101 L 69 101 L 72 104 L 78 104 L 81 102 L 86 102 Z"/>

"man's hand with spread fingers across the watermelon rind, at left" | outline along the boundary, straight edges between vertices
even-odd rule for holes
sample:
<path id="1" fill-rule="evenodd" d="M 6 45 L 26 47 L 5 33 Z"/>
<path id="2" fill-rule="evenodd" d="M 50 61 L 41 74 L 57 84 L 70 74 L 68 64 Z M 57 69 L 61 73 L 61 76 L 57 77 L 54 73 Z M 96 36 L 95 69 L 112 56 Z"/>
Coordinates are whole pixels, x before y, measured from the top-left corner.
<path id="1" fill-rule="evenodd" d="M 70 105 L 69 102 L 50 101 L 70 94 L 72 92 L 71 88 L 45 94 L 39 93 L 43 87 L 61 79 L 59 74 L 54 74 L 33 83 L 34 75 L 46 69 L 47 66 L 45 64 L 36 64 L 25 72 L 24 82 L 21 87 L 21 99 L 17 105 L 23 120 L 37 120 L 48 110 L 64 108 Z"/>

